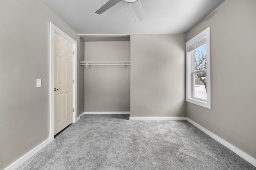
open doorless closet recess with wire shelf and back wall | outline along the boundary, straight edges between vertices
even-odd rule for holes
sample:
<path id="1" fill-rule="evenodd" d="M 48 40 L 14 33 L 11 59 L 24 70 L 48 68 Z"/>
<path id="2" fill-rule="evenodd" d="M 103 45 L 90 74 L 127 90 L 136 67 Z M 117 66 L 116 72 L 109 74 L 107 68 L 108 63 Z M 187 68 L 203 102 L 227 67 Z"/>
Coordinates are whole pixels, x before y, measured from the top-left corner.
<path id="1" fill-rule="evenodd" d="M 85 35 L 84 114 L 130 114 L 130 35 Z"/>

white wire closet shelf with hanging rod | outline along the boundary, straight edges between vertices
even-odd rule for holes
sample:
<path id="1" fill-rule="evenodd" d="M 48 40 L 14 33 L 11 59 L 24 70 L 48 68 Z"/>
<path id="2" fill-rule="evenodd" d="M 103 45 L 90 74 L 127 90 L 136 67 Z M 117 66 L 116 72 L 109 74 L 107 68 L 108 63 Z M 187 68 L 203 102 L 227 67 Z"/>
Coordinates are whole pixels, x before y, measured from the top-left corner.
<path id="1" fill-rule="evenodd" d="M 130 61 L 80 61 L 81 66 L 130 66 Z"/>

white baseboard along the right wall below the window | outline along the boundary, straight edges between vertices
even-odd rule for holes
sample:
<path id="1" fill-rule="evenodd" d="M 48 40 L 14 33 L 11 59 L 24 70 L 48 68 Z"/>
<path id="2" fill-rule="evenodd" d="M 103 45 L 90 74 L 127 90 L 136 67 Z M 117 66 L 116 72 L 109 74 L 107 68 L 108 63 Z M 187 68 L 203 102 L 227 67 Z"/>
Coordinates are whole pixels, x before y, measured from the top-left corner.
<path id="1" fill-rule="evenodd" d="M 203 131 L 204 133 L 206 133 L 207 135 L 209 135 L 210 137 L 212 137 L 213 139 L 215 139 L 217 142 L 221 143 L 222 145 L 224 145 L 225 147 L 227 147 L 231 151 L 235 152 L 241 158 L 243 158 L 244 160 L 246 160 L 247 162 L 249 162 L 250 164 L 252 164 L 253 166 L 256 167 L 256 159 L 254 159 L 252 156 L 246 154 L 245 152 L 243 152 L 242 150 L 233 146 L 232 144 L 228 143 L 224 139 L 222 139 L 222 138 L 218 137 L 217 135 L 215 135 L 214 133 L 208 131 L 207 129 L 205 129 L 204 127 L 202 127 L 198 123 L 192 121 L 191 119 L 187 118 L 187 121 L 189 123 L 191 123 L 192 125 L 194 125 L 195 127 L 197 127 L 198 129 L 200 129 L 201 131 Z"/>

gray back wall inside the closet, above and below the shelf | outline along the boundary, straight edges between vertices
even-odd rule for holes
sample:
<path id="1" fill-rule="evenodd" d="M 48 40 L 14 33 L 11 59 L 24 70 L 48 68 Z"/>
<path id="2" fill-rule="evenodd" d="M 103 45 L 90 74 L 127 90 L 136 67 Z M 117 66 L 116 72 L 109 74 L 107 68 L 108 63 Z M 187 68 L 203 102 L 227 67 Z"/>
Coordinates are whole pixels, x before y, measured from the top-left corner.
<path id="1" fill-rule="evenodd" d="M 84 56 L 85 61 L 130 61 L 130 42 L 85 42 Z M 84 67 L 84 111 L 130 111 L 130 67 Z"/>

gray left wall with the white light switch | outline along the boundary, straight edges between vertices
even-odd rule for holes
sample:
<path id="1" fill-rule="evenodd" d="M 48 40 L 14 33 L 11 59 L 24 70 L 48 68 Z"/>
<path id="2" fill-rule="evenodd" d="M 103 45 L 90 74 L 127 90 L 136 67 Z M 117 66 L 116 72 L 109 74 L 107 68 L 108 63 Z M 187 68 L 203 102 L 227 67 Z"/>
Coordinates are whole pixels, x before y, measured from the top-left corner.
<path id="1" fill-rule="evenodd" d="M 49 137 L 49 22 L 79 53 L 77 33 L 40 0 L 0 0 L 0 169 Z"/>

